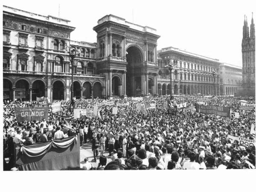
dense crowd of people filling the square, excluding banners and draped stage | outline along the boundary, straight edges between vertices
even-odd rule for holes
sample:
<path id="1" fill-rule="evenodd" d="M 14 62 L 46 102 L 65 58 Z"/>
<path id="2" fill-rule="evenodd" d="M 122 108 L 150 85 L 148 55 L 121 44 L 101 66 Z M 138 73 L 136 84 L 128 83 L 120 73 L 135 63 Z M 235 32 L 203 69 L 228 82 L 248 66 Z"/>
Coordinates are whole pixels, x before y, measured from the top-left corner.
<path id="1" fill-rule="evenodd" d="M 176 115 L 167 112 L 164 103 L 169 97 L 144 97 L 143 100 L 77 99 L 61 101 L 61 111 L 49 113 L 48 119 L 17 122 L 15 107 L 36 105 L 36 102 L 5 101 L 3 104 L 4 152 L 12 155 L 15 145 L 32 145 L 52 139 L 79 135 L 80 145 L 92 143 L 99 166 L 84 159 L 81 169 L 255 169 L 255 145 L 232 143 L 227 136 L 255 140 L 250 134 L 255 125 L 255 109 L 239 111 L 241 103 L 255 104 L 254 97 L 174 97 L 173 103 L 187 103 Z M 113 102 L 112 104 L 105 104 Z M 193 112 L 190 105 L 230 106 L 230 117 Z M 145 112 L 137 103 L 155 103 Z M 81 115 L 70 119 L 73 109 L 93 109 L 94 117 Z M 113 107 L 118 108 L 116 115 Z M 235 117 L 234 112 L 239 112 Z M 111 162 L 107 163 L 105 151 Z"/>

